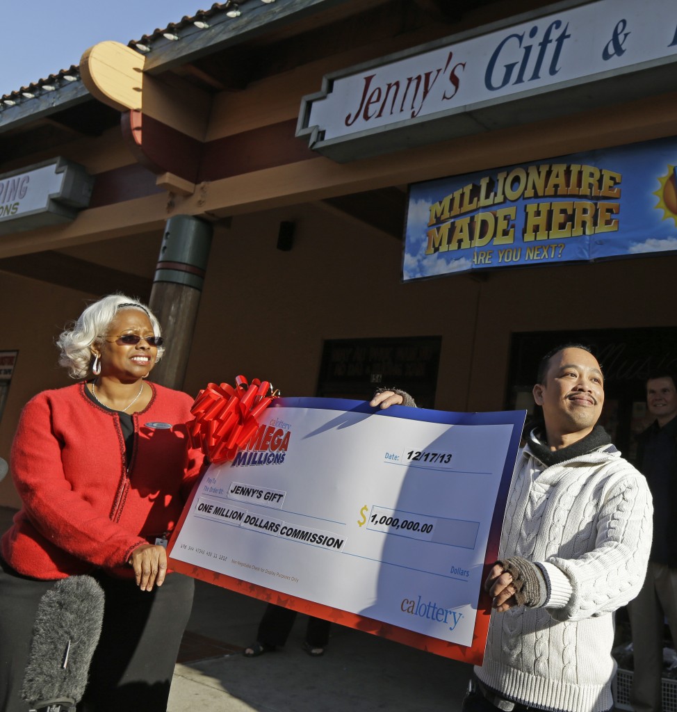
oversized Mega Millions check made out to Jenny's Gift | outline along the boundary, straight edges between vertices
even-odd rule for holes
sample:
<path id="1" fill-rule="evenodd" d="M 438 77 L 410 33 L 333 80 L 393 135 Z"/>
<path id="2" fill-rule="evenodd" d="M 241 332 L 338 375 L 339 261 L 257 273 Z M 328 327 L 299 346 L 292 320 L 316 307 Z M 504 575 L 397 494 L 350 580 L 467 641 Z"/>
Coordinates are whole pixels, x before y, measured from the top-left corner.
<path id="1" fill-rule="evenodd" d="M 498 556 L 524 418 L 278 399 L 236 458 L 194 489 L 170 566 L 481 661 L 481 587 Z"/>

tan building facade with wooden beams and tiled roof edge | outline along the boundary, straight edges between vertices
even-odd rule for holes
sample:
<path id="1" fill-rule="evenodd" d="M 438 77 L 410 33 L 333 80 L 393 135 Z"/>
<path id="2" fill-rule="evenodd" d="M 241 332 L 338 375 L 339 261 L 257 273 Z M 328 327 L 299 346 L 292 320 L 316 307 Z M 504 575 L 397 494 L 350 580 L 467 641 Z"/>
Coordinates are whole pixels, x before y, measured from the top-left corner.
<path id="1" fill-rule="evenodd" d="M 399 385 L 437 409 L 521 408 L 542 352 L 585 340 L 607 368 L 604 422 L 630 451 L 642 377 L 677 358 L 677 258 L 665 245 L 403 281 L 404 235 L 413 185 L 673 137 L 677 10 L 654 3 L 660 41 L 609 0 L 227 2 L 129 46 L 90 48 L 78 68 L 5 95 L 0 456 L 26 400 L 68 383 L 53 342 L 86 302 L 117 290 L 157 298 L 168 271 L 186 271 L 161 253 L 177 216 L 211 234 L 198 282 L 184 283 L 199 297 L 190 328 L 167 329 L 168 350 L 186 350 L 190 394 L 243 374 L 288 395 Z M 607 59 L 570 67 L 584 11 Z M 406 64 L 431 52 L 444 61 Z M 387 94 L 395 79 L 378 84 L 401 66 L 406 115 L 394 111 L 402 94 Z M 503 94 L 454 105 L 473 66 Z M 416 100 L 436 77 L 449 103 L 426 116 Z M 346 78 L 357 90 L 340 95 Z M 336 103 L 315 122 L 327 98 Z M 332 138 L 321 122 L 334 117 L 343 133 Z M 675 164 L 666 151 L 649 194 L 661 179 L 669 187 Z M 38 170 L 50 181 L 70 170 L 75 189 L 55 193 Z M 28 174 L 41 198 L 24 208 Z M 662 201 L 677 231 L 666 190 Z M 9 478 L 0 504 L 18 505 Z"/>

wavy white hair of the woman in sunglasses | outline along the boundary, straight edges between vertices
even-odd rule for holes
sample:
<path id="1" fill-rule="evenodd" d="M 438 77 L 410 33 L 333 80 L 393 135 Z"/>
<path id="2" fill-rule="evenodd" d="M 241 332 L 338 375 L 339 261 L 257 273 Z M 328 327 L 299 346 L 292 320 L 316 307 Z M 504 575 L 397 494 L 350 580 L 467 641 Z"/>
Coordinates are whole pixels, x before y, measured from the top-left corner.
<path id="1" fill-rule="evenodd" d="M 102 336 L 117 314 L 126 309 L 138 309 L 145 312 L 150 320 L 153 333 L 162 335 L 159 321 L 152 311 L 137 299 L 132 299 L 124 294 L 109 294 L 94 302 L 80 314 L 77 321 L 70 323 L 61 336 L 56 340 L 56 345 L 61 349 L 59 365 L 68 369 L 71 378 L 86 378 L 92 367 L 92 345 L 100 344 Z M 157 361 L 164 353 L 164 347 L 157 350 Z"/>

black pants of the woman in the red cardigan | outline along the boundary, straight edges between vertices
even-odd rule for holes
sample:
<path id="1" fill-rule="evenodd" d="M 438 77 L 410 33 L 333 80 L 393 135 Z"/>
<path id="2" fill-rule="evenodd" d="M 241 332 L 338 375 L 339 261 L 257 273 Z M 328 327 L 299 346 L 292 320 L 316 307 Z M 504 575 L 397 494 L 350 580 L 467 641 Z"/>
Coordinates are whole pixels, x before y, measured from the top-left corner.
<path id="1" fill-rule="evenodd" d="M 194 581 L 177 573 L 152 592 L 134 580 L 94 575 L 103 588 L 103 628 L 78 712 L 165 712 L 179 644 L 190 616 Z M 0 570 L 0 709 L 26 712 L 23 671 L 38 604 L 53 581 Z"/>

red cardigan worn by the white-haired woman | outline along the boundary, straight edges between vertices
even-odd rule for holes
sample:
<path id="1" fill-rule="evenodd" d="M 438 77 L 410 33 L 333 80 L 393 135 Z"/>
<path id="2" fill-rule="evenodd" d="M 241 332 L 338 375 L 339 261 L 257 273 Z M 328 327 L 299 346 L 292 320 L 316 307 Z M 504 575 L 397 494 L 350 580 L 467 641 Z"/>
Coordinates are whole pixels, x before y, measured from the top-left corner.
<path id="1" fill-rule="evenodd" d="M 202 464 L 190 449 L 187 394 L 149 383 L 132 414 L 129 471 L 117 414 L 93 403 L 84 382 L 43 391 L 21 412 L 11 472 L 23 508 L 0 544 L 16 571 L 58 579 L 103 567 L 130 575 L 132 550 L 172 531 Z"/>

